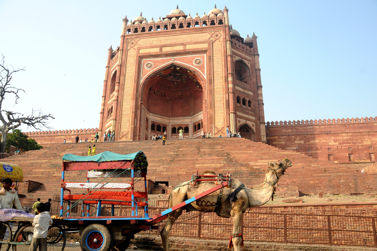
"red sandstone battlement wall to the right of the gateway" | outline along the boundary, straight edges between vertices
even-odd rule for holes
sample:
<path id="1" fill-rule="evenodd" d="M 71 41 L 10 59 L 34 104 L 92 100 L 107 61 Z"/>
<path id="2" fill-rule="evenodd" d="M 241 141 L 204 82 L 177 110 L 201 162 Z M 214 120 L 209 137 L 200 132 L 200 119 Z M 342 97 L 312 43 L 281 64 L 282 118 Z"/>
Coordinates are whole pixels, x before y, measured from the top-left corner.
<path id="1" fill-rule="evenodd" d="M 374 162 L 377 117 L 268 122 L 267 143 L 321 160 Z"/>

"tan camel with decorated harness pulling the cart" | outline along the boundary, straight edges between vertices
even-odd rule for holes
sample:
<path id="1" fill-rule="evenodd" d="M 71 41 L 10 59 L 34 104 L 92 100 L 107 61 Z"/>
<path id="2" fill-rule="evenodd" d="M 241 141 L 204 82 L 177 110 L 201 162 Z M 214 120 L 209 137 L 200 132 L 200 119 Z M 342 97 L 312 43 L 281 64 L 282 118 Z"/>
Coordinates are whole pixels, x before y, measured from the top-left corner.
<path id="1" fill-rule="evenodd" d="M 232 216 L 233 234 L 231 235 L 231 241 L 228 248 L 230 249 L 233 246 L 234 251 L 241 251 L 241 246 L 243 246 L 243 238 L 241 234 L 242 214 L 247 208 L 261 206 L 266 204 L 272 198 L 275 191 L 275 184 L 279 181 L 279 178 L 284 174 L 285 170 L 292 166 L 292 162 L 285 158 L 284 160 L 275 163 L 269 162 L 268 165 L 269 168 L 266 177 L 260 188 L 249 189 L 244 186 L 241 181 L 232 179 L 230 187 L 223 187 L 220 191 L 217 190 L 200 200 L 193 201 L 187 206 L 169 213 L 166 223 L 160 232 L 163 250 L 169 251 L 170 230 L 174 222 L 182 214 L 182 210 L 185 208 L 186 211 L 216 212 L 218 216 L 223 218 L 229 218 Z M 215 172 L 213 171 L 205 171 L 203 173 L 203 175 L 214 174 Z M 169 208 L 195 197 L 215 186 L 215 181 L 198 181 L 196 186 L 191 185 L 190 181 L 184 182 L 171 191 L 168 199 Z M 234 191 L 237 193 L 235 196 L 234 193 L 231 194 Z M 222 196 L 218 199 L 220 193 L 222 193 Z"/>

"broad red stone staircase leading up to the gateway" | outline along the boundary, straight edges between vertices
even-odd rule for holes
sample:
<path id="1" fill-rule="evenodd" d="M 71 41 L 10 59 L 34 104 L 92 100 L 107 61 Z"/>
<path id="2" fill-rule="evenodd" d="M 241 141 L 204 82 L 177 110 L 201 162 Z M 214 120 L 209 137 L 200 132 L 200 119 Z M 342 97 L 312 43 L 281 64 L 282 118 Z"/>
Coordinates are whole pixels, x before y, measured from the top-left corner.
<path id="1" fill-rule="evenodd" d="M 243 138 L 212 138 L 160 141 L 128 141 L 94 143 L 97 153 L 113 151 L 128 154 L 143 151 L 148 159 L 148 179 L 168 182 L 176 186 L 189 180 L 196 170 L 214 170 L 215 173 L 232 174 L 248 187 L 260 185 L 269 161 L 288 157 L 293 166 L 280 179 L 276 194 L 296 196 L 302 194 L 371 194 L 377 180 L 376 174 L 358 173 L 355 169 L 330 161 L 315 160 L 304 154 L 281 150 L 267 144 Z M 25 194 L 21 201 L 30 206 L 41 198 L 47 201 L 60 193 L 61 159 L 66 153 L 86 156 L 93 143 L 47 144 L 44 149 L 28 151 L 5 159 L 19 165 L 25 180 L 42 183 L 39 188 Z M 86 171 L 66 172 L 65 180 L 86 180 Z M 120 180 L 120 179 L 119 179 Z M 119 182 L 118 180 L 118 182 Z M 117 181 L 113 181 L 117 182 Z M 127 182 L 120 181 L 120 182 Z M 23 184 L 20 185 L 22 187 Z"/>

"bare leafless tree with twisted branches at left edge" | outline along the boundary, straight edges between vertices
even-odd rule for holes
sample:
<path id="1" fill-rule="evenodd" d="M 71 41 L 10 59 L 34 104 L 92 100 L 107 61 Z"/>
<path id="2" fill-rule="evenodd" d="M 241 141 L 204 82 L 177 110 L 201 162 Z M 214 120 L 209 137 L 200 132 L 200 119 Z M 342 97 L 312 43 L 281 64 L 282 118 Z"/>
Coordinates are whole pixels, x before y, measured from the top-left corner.
<path id="1" fill-rule="evenodd" d="M 11 65 L 8 66 L 5 64 L 4 55 L 2 55 L 1 63 L 0 63 L 0 121 L 2 126 L 0 126 L 1 132 L 1 146 L 0 152 L 5 151 L 6 145 L 6 138 L 8 136 L 8 132 L 12 129 L 15 129 L 21 125 L 27 125 L 35 128 L 36 130 L 40 130 L 42 127 L 50 128 L 47 126 L 48 119 L 54 119 L 52 114 L 43 115 L 41 110 L 31 110 L 31 114 L 24 116 L 24 114 L 14 112 L 14 111 L 7 111 L 2 108 L 3 100 L 5 96 L 14 95 L 15 102 L 17 104 L 17 100 L 20 99 L 18 94 L 20 92 L 25 92 L 21 88 L 12 87 L 10 86 L 10 80 L 12 80 L 12 75 L 20 72 L 25 71 L 25 68 L 18 68 L 15 70 Z"/>

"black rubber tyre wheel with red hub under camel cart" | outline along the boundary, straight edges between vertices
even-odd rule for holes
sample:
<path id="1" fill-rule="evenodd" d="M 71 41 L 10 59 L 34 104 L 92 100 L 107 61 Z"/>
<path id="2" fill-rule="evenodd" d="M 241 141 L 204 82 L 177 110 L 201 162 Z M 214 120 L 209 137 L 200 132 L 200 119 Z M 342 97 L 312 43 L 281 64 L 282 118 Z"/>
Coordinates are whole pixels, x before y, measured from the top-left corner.
<path id="1" fill-rule="evenodd" d="M 80 246 L 82 251 L 109 251 L 112 234 L 104 225 L 91 224 L 82 231 Z"/>

